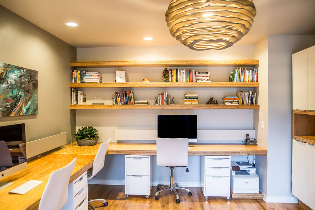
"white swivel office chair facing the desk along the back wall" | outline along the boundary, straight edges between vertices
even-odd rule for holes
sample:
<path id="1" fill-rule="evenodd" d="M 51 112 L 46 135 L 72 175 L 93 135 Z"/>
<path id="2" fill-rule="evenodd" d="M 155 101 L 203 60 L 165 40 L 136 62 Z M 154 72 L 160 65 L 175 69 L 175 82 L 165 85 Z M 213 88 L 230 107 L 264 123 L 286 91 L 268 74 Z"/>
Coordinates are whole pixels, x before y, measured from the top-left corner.
<path id="1" fill-rule="evenodd" d="M 171 169 L 170 186 L 164 184 L 157 185 L 155 200 L 158 200 L 158 194 L 164 190 L 171 190 L 176 195 L 176 203 L 179 203 L 179 196 L 176 189 L 188 191 L 188 196 L 192 196 L 192 191 L 185 187 L 178 187 L 178 184 L 173 183 L 173 169 L 176 166 L 188 165 L 188 139 L 164 139 L 157 138 L 157 166 L 168 166 Z M 160 190 L 160 187 L 166 187 Z"/>

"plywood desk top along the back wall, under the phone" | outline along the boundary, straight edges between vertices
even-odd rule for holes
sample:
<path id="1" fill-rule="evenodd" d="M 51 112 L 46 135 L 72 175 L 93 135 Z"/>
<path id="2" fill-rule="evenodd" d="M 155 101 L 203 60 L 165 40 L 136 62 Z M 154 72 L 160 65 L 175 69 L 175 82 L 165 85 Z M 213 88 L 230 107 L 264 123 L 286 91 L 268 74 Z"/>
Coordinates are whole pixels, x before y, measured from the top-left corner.
<path id="1" fill-rule="evenodd" d="M 267 155 L 260 146 L 240 144 L 190 144 L 188 155 Z M 156 144 L 148 143 L 110 143 L 108 154 L 156 155 Z"/>

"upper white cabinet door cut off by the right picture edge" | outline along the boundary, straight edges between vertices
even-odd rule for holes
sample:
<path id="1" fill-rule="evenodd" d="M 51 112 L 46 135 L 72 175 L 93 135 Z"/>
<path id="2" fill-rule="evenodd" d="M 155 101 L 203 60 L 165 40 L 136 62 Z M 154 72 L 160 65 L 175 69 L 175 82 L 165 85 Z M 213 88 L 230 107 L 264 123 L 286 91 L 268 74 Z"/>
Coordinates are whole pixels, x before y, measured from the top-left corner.
<path id="1" fill-rule="evenodd" d="M 315 110 L 315 46 L 307 48 L 307 109 Z"/>

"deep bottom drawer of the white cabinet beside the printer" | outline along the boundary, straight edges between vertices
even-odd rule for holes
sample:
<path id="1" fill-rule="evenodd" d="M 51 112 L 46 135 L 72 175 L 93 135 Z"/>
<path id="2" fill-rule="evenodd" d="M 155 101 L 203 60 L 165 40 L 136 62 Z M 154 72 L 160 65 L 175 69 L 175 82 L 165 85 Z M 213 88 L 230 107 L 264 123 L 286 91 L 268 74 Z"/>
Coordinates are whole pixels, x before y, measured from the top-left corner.
<path id="1" fill-rule="evenodd" d="M 229 196 L 229 176 L 206 176 L 206 196 Z"/>

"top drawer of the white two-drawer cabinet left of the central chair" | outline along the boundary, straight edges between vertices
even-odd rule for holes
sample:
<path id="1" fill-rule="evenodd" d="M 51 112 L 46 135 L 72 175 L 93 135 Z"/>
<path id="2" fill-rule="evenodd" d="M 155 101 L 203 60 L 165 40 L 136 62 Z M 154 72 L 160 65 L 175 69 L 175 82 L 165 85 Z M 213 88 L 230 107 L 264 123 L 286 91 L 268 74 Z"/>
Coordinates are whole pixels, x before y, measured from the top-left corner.
<path id="1" fill-rule="evenodd" d="M 149 158 L 126 157 L 126 175 L 149 175 Z"/>

